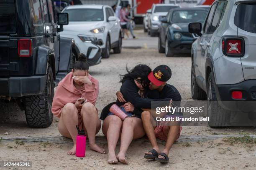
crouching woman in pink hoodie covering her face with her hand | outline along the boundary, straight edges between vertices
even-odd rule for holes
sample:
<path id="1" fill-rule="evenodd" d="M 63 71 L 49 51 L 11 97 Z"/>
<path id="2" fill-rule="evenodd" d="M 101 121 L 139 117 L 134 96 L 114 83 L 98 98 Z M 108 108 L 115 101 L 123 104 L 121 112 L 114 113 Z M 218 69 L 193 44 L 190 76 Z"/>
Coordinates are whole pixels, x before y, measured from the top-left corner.
<path id="1" fill-rule="evenodd" d="M 76 125 L 79 125 L 80 130 L 84 129 L 90 140 L 91 150 L 106 153 L 95 143 L 95 135 L 101 127 L 95 107 L 98 94 L 99 82 L 89 74 L 86 56 L 80 54 L 72 72 L 59 82 L 51 107 L 52 113 L 59 117 L 59 133 L 73 140 L 74 146 L 69 150 L 69 155 L 76 153 Z M 81 97 L 86 100 L 78 100 Z"/>

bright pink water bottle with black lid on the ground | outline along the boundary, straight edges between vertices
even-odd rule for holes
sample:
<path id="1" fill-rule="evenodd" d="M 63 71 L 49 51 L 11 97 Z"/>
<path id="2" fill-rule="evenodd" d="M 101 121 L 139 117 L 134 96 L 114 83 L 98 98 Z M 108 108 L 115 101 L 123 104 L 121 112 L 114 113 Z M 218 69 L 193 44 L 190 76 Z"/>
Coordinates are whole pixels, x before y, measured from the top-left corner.
<path id="1" fill-rule="evenodd" d="M 86 149 L 86 136 L 84 130 L 80 130 L 77 126 L 77 150 L 76 156 L 77 157 L 84 157 L 85 156 L 85 149 Z"/>

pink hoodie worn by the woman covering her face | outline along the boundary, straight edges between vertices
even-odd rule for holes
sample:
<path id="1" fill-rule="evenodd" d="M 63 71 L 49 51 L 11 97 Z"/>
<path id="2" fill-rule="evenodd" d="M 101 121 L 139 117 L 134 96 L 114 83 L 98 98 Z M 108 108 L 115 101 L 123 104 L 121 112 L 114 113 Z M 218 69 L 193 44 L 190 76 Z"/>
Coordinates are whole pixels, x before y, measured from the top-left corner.
<path id="1" fill-rule="evenodd" d="M 72 72 L 69 72 L 69 74 L 59 82 L 59 85 L 56 89 L 51 106 L 51 112 L 56 117 L 61 116 L 62 109 L 67 103 L 75 103 L 77 99 L 81 97 L 86 98 L 87 102 L 91 102 L 93 105 L 96 103 L 97 97 L 99 95 L 98 80 L 88 74 L 89 79 L 92 81 L 92 85 L 85 84 L 81 89 L 77 89 L 74 86 L 74 80 L 72 77 Z"/>

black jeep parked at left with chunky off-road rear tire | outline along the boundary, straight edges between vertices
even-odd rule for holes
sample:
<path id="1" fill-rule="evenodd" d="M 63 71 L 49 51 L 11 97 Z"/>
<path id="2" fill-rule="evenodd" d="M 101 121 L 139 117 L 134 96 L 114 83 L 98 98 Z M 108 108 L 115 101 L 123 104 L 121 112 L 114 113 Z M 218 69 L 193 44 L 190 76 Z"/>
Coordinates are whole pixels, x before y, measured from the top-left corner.
<path id="1" fill-rule="evenodd" d="M 0 0 L 0 98 L 23 108 L 30 127 L 51 125 L 54 87 L 74 64 L 74 40 L 59 36 L 67 24 L 53 0 Z"/>

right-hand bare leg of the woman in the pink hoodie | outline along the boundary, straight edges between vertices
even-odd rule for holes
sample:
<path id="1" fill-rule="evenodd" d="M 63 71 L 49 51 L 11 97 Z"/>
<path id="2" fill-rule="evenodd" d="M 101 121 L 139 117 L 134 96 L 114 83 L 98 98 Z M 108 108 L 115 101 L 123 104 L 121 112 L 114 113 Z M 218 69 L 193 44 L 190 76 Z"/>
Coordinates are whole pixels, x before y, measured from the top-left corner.
<path id="1" fill-rule="evenodd" d="M 95 143 L 95 135 L 98 133 L 101 126 L 96 107 L 90 102 L 84 103 L 81 109 L 81 116 L 89 138 L 90 149 L 98 153 L 106 154 L 107 152 Z"/>

